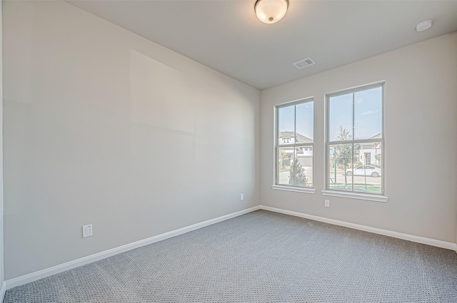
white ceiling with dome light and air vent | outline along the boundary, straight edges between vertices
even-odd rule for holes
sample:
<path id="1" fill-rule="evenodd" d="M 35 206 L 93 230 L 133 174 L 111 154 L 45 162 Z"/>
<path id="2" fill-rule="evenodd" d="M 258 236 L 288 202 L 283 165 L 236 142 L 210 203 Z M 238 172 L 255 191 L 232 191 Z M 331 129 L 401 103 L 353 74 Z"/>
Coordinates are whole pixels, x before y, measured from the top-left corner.
<path id="1" fill-rule="evenodd" d="M 291 0 L 276 24 L 255 0 L 68 2 L 259 89 L 457 31 L 457 1 Z"/>

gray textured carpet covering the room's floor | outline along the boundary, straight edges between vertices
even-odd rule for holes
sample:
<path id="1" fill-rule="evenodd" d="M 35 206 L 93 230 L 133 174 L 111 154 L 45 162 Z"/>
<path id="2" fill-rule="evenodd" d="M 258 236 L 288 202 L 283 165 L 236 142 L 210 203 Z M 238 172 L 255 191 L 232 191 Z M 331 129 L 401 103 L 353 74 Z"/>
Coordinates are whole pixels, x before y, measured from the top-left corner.
<path id="1" fill-rule="evenodd" d="M 12 302 L 457 302 L 457 255 L 259 210 L 10 289 Z"/>

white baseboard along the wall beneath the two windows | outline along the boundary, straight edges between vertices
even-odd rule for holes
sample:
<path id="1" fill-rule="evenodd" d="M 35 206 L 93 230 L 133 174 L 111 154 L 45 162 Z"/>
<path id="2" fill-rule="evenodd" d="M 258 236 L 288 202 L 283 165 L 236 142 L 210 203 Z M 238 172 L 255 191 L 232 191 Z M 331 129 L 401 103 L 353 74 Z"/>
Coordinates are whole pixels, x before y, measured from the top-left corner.
<path id="1" fill-rule="evenodd" d="M 372 232 L 373 234 L 385 235 L 388 237 L 395 237 L 398 239 L 408 240 L 411 242 L 417 242 L 417 243 L 421 243 L 421 244 L 446 248 L 448 250 L 456 250 L 456 252 L 457 252 L 457 244 L 452 243 L 452 242 L 434 240 L 434 239 L 430 239 L 430 238 L 426 238 L 426 237 L 418 237 L 418 236 L 414 236 L 414 235 L 403 234 L 401 232 L 392 232 L 391 230 L 381 230 L 380 228 L 376 228 L 376 227 L 358 225 L 358 224 L 354 224 L 354 223 L 328 219 L 326 217 L 318 217 L 315 215 L 307 215 L 307 214 L 304 214 L 303 212 L 293 212 L 291 210 L 282 210 L 281 208 L 270 207 L 270 206 L 265 206 L 265 205 L 260 205 L 260 208 L 261 208 L 261 210 L 269 210 L 271 212 L 281 212 L 281 214 L 285 214 L 285 215 L 304 217 L 304 218 L 310 219 L 310 220 L 325 222 L 325 223 L 339 225 L 339 226 L 343 226 L 343 227 L 349 227 L 349 228 L 353 228 L 354 230 L 363 230 L 365 232 Z"/>

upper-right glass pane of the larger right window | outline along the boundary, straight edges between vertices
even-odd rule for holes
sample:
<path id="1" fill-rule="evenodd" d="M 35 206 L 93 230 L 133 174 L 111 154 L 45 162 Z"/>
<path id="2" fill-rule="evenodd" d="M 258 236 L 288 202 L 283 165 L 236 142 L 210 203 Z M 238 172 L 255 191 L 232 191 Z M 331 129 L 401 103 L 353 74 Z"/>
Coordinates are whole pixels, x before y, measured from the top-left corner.
<path id="1" fill-rule="evenodd" d="M 382 87 L 354 93 L 356 140 L 380 139 L 382 131 Z"/>

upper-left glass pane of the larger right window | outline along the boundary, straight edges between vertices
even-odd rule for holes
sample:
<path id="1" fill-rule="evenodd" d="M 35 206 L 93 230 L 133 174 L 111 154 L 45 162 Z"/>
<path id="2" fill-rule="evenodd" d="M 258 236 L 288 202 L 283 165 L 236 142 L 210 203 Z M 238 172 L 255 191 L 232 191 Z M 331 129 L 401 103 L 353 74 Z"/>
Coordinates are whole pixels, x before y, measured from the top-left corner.
<path id="1" fill-rule="evenodd" d="M 352 93 L 329 98 L 328 135 L 329 141 L 352 140 Z"/>

